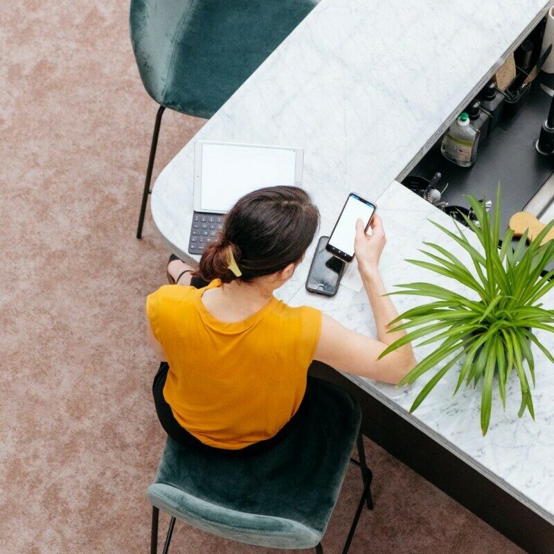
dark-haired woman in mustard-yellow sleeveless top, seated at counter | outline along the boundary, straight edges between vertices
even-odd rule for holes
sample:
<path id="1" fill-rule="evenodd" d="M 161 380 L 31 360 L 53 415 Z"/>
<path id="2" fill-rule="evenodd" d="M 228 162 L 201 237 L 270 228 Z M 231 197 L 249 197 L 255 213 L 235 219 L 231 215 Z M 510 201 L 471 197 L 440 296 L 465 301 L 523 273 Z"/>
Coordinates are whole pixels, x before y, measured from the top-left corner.
<path id="1" fill-rule="evenodd" d="M 233 206 L 221 240 L 206 248 L 196 270 L 170 258 L 168 277 L 177 286 L 150 294 L 146 309 L 148 341 L 162 362 L 154 402 L 163 428 L 179 443 L 241 453 L 269 447 L 298 419 L 314 359 L 389 383 L 415 365 L 409 344 L 377 359 L 405 334 L 388 332 L 397 312 L 377 268 L 386 242 L 378 215 L 370 236 L 357 222 L 355 239 L 377 339 L 274 297 L 318 225 L 304 190 L 264 188 Z"/>

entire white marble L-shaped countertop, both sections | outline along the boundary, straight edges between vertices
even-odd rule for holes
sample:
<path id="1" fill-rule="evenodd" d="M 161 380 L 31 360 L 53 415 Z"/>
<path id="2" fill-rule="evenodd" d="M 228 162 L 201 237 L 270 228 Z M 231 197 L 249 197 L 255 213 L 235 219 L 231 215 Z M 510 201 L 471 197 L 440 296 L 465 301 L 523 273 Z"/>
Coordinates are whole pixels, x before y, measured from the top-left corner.
<path id="1" fill-rule="evenodd" d="M 375 200 L 384 218 L 386 284 L 416 280 L 424 270 L 403 260 L 414 256 L 421 240 L 436 240 L 438 231 L 425 218 L 452 222 L 392 181 L 420 159 L 550 4 L 323 0 L 195 140 L 303 148 L 303 187 L 320 208 L 321 234 L 330 231 L 346 195 L 355 190 Z M 193 142 L 163 169 L 151 204 L 166 244 L 186 258 Z M 298 267 L 279 290 L 280 298 L 314 305 L 350 328 L 375 332 L 363 291 L 340 287 L 334 298 L 308 294 L 308 266 Z M 404 310 L 411 300 L 398 296 L 395 303 Z M 551 337 L 539 336 L 554 348 Z M 408 409 L 425 377 L 400 389 L 353 380 L 554 524 L 554 372 L 541 352 L 535 355 L 537 421 L 527 414 L 517 418 L 519 385 L 511 382 L 506 413 L 494 403 L 485 438 L 479 427 L 481 397 L 467 389 L 452 398 L 454 372 L 413 414 Z"/>

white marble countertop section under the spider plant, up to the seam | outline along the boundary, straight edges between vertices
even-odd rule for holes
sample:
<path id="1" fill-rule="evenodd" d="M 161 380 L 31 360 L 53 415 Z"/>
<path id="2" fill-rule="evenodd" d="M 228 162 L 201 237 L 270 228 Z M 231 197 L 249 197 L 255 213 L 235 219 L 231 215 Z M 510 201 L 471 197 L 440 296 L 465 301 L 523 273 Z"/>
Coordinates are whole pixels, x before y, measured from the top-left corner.
<path id="1" fill-rule="evenodd" d="M 465 251 L 428 220 L 455 231 L 451 217 L 396 181 L 377 199 L 377 205 L 387 235 L 379 268 L 389 291 L 395 290 L 395 285 L 431 279 L 433 283 L 472 296 L 463 285 L 448 278 L 441 279 L 404 261 L 406 258 L 425 259 L 418 249 L 423 247 L 423 241 L 427 241 L 442 244 L 470 264 Z M 324 234 L 329 229 L 321 231 Z M 482 250 L 474 233 L 467 231 L 467 237 L 474 242 L 474 247 Z M 301 278 L 305 279 L 305 276 Z M 404 312 L 420 304 L 421 298 L 401 295 L 394 296 L 393 301 L 397 310 Z M 554 291 L 542 301 L 545 307 L 554 307 Z M 357 293 L 339 287 L 336 296 L 327 298 L 301 287 L 289 304 L 312 305 L 352 330 L 375 336 L 375 322 L 363 289 Z M 548 350 L 554 351 L 554 334 L 546 331 L 535 334 Z M 422 359 L 434 347 L 416 348 L 415 355 Z M 536 388 L 532 391 L 535 421 L 528 413 L 521 419 L 517 417 L 521 393 L 519 380 L 513 373 L 506 391 L 506 411 L 502 410 L 497 388 L 494 389 L 490 427 L 484 437 L 480 426 L 481 384 L 476 389 L 461 388 L 454 397 L 452 395 L 461 362 L 443 377 L 411 414 L 409 409 L 413 400 L 434 371 L 423 375 L 413 385 L 401 388 L 364 377 L 347 377 L 554 524 L 554 367 L 535 345 L 532 350 L 537 372 Z M 494 386 L 497 387 L 496 382 Z"/>

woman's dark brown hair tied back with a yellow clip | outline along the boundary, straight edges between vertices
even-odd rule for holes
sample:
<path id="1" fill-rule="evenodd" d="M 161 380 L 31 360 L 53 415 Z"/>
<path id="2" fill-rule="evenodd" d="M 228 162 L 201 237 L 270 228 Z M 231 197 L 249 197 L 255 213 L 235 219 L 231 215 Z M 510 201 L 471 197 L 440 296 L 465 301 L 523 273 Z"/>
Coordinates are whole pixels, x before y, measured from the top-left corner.
<path id="1" fill-rule="evenodd" d="M 305 190 L 271 186 L 244 195 L 226 215 L 220 240 L 210 244 L 196 274 L 231 283 L 230 253 L 240 280 L 271 275 L 301 260 L 319 225 L 319 211 Z"/>

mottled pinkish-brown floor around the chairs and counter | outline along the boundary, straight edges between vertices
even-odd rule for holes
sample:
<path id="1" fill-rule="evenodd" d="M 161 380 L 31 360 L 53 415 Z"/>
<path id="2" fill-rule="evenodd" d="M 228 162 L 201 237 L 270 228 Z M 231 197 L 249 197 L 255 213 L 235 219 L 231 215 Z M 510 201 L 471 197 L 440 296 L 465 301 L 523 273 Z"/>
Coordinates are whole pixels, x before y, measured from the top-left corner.
<path id="1" fill-rule="evenodd" d="M 0 553 L 145 553 L 163 432 L 144 298 L 168 253 L 134 238 L 156 106 L 127 2 L 22 0 L 0 10 Z M 202 126 L 167 113 L 155 174 Z M 371 443 L 359 553 L 521 553 Z M 323 544 L 338 553 L 352 469 Z M 166 520 L 163 520 L 165 530 Z M 260 553 L 184 525 L 172 553 Z"/>

